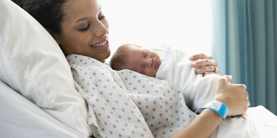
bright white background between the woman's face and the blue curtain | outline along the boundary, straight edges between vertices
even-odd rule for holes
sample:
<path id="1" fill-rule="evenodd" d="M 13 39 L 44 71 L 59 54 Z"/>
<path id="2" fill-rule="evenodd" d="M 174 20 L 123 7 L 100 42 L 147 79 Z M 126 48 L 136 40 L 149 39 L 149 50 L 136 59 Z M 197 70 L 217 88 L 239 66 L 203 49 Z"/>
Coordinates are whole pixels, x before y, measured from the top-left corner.
<path id="1" fill-rule="evenodd" d="M 210 0 L 100 0 L 100 3 L 110 24 L 112 53 L 122 44 L 134 43 L 168 44 L 186 53 L 212 55 Z"/>

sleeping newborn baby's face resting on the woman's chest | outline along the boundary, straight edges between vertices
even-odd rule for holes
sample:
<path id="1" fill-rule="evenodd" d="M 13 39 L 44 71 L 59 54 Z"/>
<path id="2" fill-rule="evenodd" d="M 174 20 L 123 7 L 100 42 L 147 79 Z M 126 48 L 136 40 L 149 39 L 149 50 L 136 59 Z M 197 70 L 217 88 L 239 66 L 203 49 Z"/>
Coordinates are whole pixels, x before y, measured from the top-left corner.
<path id="1" fill-rule="evenodd" d="M 157 51 L 145 47 L 131 46 L 128 48 L 126 69 L 155 77 L 162 61 Z"/>

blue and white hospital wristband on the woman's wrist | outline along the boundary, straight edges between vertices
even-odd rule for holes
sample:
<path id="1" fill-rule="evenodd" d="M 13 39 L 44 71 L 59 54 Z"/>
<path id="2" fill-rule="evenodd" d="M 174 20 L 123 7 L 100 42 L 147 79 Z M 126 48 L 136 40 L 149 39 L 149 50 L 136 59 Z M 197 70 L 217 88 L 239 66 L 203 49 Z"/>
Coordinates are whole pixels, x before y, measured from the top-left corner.
<path id="1" fill-rule="evenodd" d="M 210 110 L 217 112 L 218 114 L 220 114 L 223 117 L 223 120 L 226 118 L 228 111 L 229 111 L 229 108 L 224 103 L 222 103 L 221 101 L 214 100 L 214 101 L 208 102 L 207 104 L 205 104 L 204 106 L 199 108 L 194 113 L 200 114 L 205 108 L 208 108 Z"/>

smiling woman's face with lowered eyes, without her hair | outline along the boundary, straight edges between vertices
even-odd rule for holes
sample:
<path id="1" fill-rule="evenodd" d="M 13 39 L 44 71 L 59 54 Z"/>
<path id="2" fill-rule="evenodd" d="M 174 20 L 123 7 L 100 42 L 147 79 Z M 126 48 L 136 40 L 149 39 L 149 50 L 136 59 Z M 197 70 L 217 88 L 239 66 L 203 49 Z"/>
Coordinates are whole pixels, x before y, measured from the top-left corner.
<path id="1" fill-rule="evenodd" d="M 61 35 L 56 41 L 65 56 L 78 54 L 98 61 L 106 60 L 111 50 L 108 42 L 108 21 L 97 0 L 70 0 L 65 4 Z"/>

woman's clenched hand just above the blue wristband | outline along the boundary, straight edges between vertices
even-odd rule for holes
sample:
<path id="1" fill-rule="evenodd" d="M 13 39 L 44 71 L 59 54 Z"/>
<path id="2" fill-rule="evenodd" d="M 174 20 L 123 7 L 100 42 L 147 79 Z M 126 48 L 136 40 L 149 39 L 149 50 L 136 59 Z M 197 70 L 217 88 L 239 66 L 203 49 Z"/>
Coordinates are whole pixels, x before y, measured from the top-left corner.
<path id="1" fill-rule="evenodd" d="M 227 116 L 246 114 L 246 110 L 250 103 L 246 86 L 243 84 L 230 84 L 232 76 L 224 75 L 218 79 L 214 97 L 212 100 L 218 100 L 224 103 L 229 112 Z"/>

